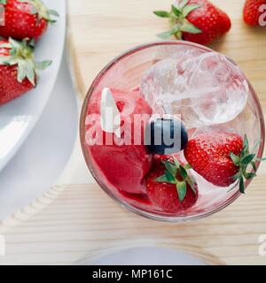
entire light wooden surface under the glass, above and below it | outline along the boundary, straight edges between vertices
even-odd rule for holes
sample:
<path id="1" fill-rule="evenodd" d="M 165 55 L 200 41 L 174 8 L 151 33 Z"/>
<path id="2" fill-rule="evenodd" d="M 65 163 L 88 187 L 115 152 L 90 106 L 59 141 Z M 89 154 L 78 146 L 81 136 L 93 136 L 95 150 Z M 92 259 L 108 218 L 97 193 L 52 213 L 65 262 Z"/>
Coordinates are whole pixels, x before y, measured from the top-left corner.
<path id="1" fill-rule="evenodd" d="M 266 111 L 266 28 L 246 27 L 244 0 L 213 0 L 229 13 L 231 32 L 211 47 L 244 70 Z M 69 65 L 80 104 L 98 72 L 113 57 L 137 44 L 153 42 L 168 24 L 152 11 L 170 0 L 69 0 Z M 40 180 L 41 181 L 41 180 Z M 259 240 L 266 234 L 266 164 L 248 194 L 212 217 L 166 224 L 122 210 L 90 179 L 77 137 L 57 184 L 43 198 L 6 219 L 0 233 L 6 256 L 0 264 L 72 264 L 93 261 L 118 249 L 160 245 L 183 249 L 210 264 L 266 264 Z"/>

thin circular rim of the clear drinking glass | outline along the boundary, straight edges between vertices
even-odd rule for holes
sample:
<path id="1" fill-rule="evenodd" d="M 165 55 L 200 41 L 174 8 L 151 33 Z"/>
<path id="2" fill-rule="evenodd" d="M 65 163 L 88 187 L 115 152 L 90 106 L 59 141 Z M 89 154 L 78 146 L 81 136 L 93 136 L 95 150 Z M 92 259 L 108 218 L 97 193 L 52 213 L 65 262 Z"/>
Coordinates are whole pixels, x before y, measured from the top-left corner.
<path id="1" fill-rule="evenodd" d="M 93 165 L 91 165 L 89 163 L 90 157 L 89 157 L 88 152 L 85 149 L 85 146 L 83 145 L 83 142 L 82 142 L 85 139 L 84 126 L 85 126 L 85 119 L 86 119 L 87 107 L 88 107 L 88 102 L 89 102 L 90 96 L 94 92 L 94 89 L 98 87 L 98 83 L 100 82 L 100 80 L 113 67 L 113 65 L 118 64 L 123 58 L 128 57 L 130 55 L 133 55 L 133 54 L 135 54 L 139 51 L 142 51 L 142 50 L 147 50 L 147 49 L 150 49 L 150 48 L 153 48 L 153 47 L 156 47 L 156 46 L 175 46 L 175 45 L 176 46 L 177 45 L 184 45 L 184 46 L 189 46 L 189 47 L 195 47 L 195 48 L 198 48 L 200 50 L 207 51 L 207 52 L 215 51 L 215 50 L 212 50 L 212 49 L 210 49 L 206 46 L 200 45 L 198 43 L 177 41 L 177 40 L 174 41 L 173 40 L 173 41 L 148 42 L 148 43 L 144 43 L 144 44 L 141 44 L 141 45 L 137 45 L 136 47 L 133 47 L 129 50 L 122 52 L 117 57 L 114 57 L 113 60 L 111 60 L 98 73 L 96 78 L 92 81 L 92 83 L 90 84 L 90 88 L 88 90 L 88 93 L 85 96 L 84 102 L 82 104 L 82 112 L 81 112 L 81 118 L 80 118 L 80 141 L 81 141 L 81 145 L 82 145 L 82 153 L 83 153 L 83 156 L 85 157 L 85 162 L 86 162 L 88 168 L 90 169 L 90 172 L 91 172 L 93 178 L 96 180 L 99 187 L 101 187 L 106 192 L 106 195 L 111 197 L 115 203 L 118 203 L 122 208 L 129 210 L 129 211 L 137 214 L 138 216 L 142 216 L 142 217 L 145 217 L 145 218 L 148 218 L 148 219 L 162 221 L 162 222 L 169 222 L 169 223 L 184 223 L 184 222 L 187 222 L 187 221 L 197 220 L 197 219 L 200 219 L 200 218 L 206 218 L 208 216 L 211 216 L 211 215 L 225 209 L 226 207 L 231 205 L 231 203 L 234 203 L 239 198 L 239 196 L 242 195 L 242 194 L 238 191 L 234 195 L 231 195 L 230 199 L 227 199 L 226 201 L 224 201 L 224 203 L 215 207 L 213 210 L 203 211 L 202 213 L 195 213 L 195 215 L 188 215 L 188 216 L 162 216 L 162 215 L 157 215 L 157 214 L 155 214 L 155 212 L 153 213 L 153 212 L 150 212 L 150 211 L 139 209 L 139 208 L 137 208 L 137 207 L 135 207 L 135 206 L 133 206 L 129 203 L 126 203 L 125 201 L 119 199 L 119 197 L 114 195 L 112 193 L 112 191 L 108 187 L 106 187 L 106 185 L 94 175 L 93 172 L 94 172 L 95 168 L 93 168 Z M 217 52 L 217 51 L 215 51 L 215 52 Z M 220 53 L 220 52 L 217 52 L 217 53 Z M 228 57 L 228 58 L 231 59 L 230 57 Z M 236 65 L 239 67 L 238 64 L 236 64 Z M 241 70 L 241 72 L 243 73 L 242 70 Z M 246 79 L 245 73 L 243 73 L 243 76 Z M 258 111 L 258 114 L 259 114 L 262 142 L 261 142 L 261 145 L 258 149 L 257 157 L 262 158 L 263 151 L 264 151 L 264 145 L 265 145 L 265 124 L 264 124 L 264 116 L 263 116 L 263 111 L 262 111 L 262 105 L 260 103 L 258 96 L 256 95 L 256 93 L 254 91 L 254 88 L 250 84 L 249 80 L 246 79 L 246 81 L 248 83 L 250 93 L 253 96 L 255 108 L 256 108 L 256 110 Z M 259 168 L 260 164 L 261 164 L 260 161 L 256 162 L 257 168 Z M 245 187 L 247 188 L 250 185 L 251 182 L 252 182 L 252 180 L 246 180 Z"/>

